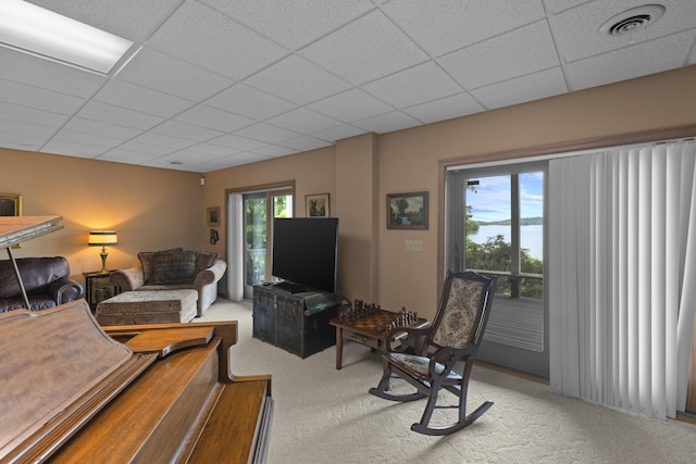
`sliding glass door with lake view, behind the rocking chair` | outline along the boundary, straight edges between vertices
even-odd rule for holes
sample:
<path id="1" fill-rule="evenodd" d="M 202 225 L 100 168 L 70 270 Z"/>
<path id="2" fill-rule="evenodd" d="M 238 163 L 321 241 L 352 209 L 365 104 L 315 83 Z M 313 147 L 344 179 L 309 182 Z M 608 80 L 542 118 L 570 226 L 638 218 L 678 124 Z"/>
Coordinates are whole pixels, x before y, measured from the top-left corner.
<path id="1" fill-rule="evenodd" d="M 545 172 L 545 164 L 449 172 L 446 263 L 498 276 L 477 358 L 546 378 Z"/>

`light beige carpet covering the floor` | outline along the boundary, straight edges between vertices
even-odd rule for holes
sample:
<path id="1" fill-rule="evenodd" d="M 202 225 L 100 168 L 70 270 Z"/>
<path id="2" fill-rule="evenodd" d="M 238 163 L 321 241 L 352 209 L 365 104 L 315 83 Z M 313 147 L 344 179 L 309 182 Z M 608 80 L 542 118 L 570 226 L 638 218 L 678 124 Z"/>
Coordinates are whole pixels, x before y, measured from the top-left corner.
<path id="1" fill-rule="evenodd" d="M 410 425 L 424 400 L 394 403 L 368 393 L 382 373 L 377 353 L 347 342 L 336 371 L 335 347 L 302 360 L 252 338 L 251 314 L 250 302 L 219 300 L 202 321 L 239 322 L 235 374 L 273 375 L 271 464 L 696 462 L 696 425 L 632 416 L 480 366 L 469 409 L 485 400 L 494 406 L 449 437 L 422 436 Z"/>

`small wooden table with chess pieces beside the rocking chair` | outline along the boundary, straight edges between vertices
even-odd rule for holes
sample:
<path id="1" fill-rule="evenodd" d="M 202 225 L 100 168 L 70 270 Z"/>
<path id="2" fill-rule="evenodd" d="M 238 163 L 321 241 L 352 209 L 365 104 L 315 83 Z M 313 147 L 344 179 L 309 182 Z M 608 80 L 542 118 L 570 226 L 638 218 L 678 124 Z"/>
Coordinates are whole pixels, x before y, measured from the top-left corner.
<path id="1" fill-rule="evenodd" d="M 335 317 L 330 324 L 336 327 L 336 369 L 343 366 L 344 358 L 344 340 L 357 341 L 375 350 L 385 350 L 387 342 L 387 330 L 384 329 L 385 324 L 394 321 L 398 313 L 386 310 L 377 310 L 374 314 L 361 317 L 356 321 L 340 321 Z M 419 317 L 413 324 L 407 327 L 422 328 L 430 323 L 427 319 Z M 396 337 L 399 339 L 401 337 Z"/>

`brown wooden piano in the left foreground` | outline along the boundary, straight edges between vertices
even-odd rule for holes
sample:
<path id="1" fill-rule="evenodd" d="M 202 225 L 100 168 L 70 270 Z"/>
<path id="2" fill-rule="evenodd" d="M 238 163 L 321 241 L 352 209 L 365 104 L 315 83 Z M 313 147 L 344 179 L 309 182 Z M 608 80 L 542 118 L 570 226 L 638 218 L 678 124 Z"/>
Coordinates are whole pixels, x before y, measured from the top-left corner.
<path id="1" fill-rule="evenodd" d="M 0 314 L 0 463 L 264 462 L 271 377 L 231 372 L 236 340 L 236 322 L 102 328 L 85 300 Z"/>

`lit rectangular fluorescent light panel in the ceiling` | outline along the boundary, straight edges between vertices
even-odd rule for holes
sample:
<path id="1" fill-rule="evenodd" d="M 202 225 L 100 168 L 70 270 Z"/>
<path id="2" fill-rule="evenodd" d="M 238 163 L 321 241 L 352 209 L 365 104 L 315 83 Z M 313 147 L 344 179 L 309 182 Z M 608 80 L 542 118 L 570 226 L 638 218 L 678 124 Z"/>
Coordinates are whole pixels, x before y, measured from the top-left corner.
<path id="1" fill-rule="evenodd" d="M 0 45 L 108 74 L 133 42 L 22 0 L 0 0 Z"/>

